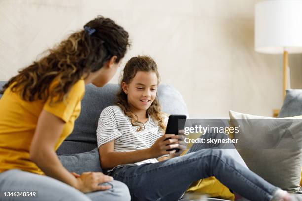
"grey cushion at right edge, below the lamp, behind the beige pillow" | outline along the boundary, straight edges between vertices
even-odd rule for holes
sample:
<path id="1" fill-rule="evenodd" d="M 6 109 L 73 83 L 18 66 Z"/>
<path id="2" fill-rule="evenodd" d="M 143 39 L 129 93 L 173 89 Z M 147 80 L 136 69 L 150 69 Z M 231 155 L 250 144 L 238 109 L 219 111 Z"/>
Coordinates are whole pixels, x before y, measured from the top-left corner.
<path id="1" fill-rule="evenodd" d="M 302 89 L 288 89 L 278 117 L 302 115 Z"/>

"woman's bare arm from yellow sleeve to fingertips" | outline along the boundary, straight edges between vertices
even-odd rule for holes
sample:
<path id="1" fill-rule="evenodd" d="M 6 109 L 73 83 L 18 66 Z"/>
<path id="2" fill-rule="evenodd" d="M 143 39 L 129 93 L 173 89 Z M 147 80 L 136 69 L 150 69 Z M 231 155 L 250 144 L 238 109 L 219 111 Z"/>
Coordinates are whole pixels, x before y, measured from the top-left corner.
<path id="1" fill-rule="evenodd" d="M 47 176 L 69 184 L 84 193 L 111 188 L 109 185 L 98 185 L 113 180 L 112 177 L 101 172 L 86 172 L 76 175 L 76 178 L 63 167 L 54 147 L 62 133 L 64 124 L 65 122 L 57 116 L 45 110 L 41 112 L 30 146 L 31 161 Z"/>

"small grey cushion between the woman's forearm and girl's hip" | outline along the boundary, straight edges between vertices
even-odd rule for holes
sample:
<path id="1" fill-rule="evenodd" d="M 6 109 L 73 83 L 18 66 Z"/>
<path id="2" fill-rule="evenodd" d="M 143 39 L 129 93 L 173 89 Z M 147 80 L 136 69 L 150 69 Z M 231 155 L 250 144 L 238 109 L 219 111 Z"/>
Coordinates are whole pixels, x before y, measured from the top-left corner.
<path id="1" fill-rule="evenodd" d="M 78 174 L 88 171 L 102 172 L 97 148 L 79 154 L 59 155 L 59 159 L 63 166 L 70 172 L 76 172 Z"/>

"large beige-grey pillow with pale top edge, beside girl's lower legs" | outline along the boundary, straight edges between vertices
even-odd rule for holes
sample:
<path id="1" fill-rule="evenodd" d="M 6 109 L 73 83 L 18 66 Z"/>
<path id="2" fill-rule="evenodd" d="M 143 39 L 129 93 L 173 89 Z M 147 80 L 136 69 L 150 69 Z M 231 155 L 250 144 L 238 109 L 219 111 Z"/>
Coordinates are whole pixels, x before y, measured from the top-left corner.
<path id="1" fill-rule="evenodd" d="M 239 154 L 253 172 L 289 192 L 301 190 L 302 120 L 282 120 L 229 111 Z"/>

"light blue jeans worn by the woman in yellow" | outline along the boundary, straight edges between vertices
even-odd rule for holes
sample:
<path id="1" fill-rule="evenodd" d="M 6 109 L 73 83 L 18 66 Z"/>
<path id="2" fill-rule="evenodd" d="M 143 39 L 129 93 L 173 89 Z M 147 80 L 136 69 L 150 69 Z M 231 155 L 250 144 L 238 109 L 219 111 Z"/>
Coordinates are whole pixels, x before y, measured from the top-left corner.
<path id="1" fill-rule="evenodd" d="M 48 176 L 17 169 L 0 173 L 0 201 L 130 201 L 127 186 L 119 181 L 107 184 L 111 189 L 82 193 Z M 4 197 L 4 192 L 36 191 L 37 197 Z"/>

